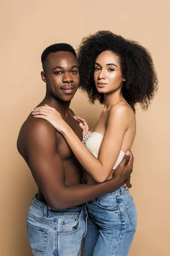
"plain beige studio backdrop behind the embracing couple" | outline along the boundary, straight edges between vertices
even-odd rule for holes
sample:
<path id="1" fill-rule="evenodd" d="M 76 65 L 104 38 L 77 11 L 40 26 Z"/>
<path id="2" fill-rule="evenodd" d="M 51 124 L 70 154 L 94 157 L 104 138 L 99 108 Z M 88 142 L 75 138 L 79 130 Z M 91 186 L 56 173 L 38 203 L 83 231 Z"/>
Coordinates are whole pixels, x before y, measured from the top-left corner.
<path id="1" fill-rule="evenodd" d="M 0 1 L 0 255 L 31 256 L 26 215 L 37 187 L 16 148 L 20 126 L 45 95 L 40 56 L 60 42 L 75 48 L 82 37 L 108 29 L 133 38 L 153 55 L 159 93 L 150 109 L 138 110 L 133 145 L 131 194 L 138 229 L 129 256 L 170 255 L 169 225 L 169 19 L 168 0 L 11 0 Z M 78 92 L 75 113 L 94 125 L 102 106 L 89 105 Z"/>

